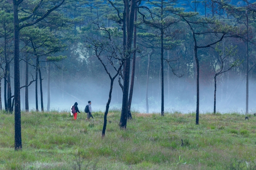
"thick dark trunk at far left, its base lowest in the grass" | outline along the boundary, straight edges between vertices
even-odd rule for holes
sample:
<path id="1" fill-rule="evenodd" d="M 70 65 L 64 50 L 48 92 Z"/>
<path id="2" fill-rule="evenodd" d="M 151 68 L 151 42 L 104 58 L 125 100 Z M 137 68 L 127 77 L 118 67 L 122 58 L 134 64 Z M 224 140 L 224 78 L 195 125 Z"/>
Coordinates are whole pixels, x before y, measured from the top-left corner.
<path id="1" fill-rule="evenodd" d="M 15 150 L 22 150 L 21 140 L 21 103 L 20 103 L 20 64 L 19 64 L 19 18 L 18 1 L 13 0 L 14 18 L 14 99 L 15 99 Z"/>

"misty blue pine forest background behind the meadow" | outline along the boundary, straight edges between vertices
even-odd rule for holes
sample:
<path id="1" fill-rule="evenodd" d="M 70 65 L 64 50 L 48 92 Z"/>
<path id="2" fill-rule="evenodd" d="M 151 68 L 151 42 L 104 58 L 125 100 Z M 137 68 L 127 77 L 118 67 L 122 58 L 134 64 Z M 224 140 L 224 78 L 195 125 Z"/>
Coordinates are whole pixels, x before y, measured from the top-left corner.
<path id="1" fill-rule="evenodd" d="M 24 0 L 18 6 L 19 19 L 23 24 L 33 23 L 48 9 L 59 3 L 52 0 Z M 136 3 L 137 21 L 134 21 L 134 25 L 137 30 L 137 40 L 130 52 L 131 67 L 133 53 L 136 54 L 131 109 L 139 112 L 161 110 L 161 26 L 164 27 L 164 110 L 195 111 L 197 94 L 195 42 L 191 28 L 184 20 L 187 19 L 191 25 L 194 24 L 192 27 L 195 32 L 202 33 L 196 34 L 198 46 L 206 46 L 218 41 L 222 36 L 221 33 L 225 32 L 224 28 L 229 27 L 229 32 L 225 34 L 229 35 L 228 38 L 223 38 L 219 43 L 207 48 L 198 48 L 200 112 L 213 112 L 214 76 L 220 71 L 221 64 L 223 71 L 232 68 L 216 77 L 217 112 L 246 111 L 246 68 L 249 71 L 249 112 L 255 110 L 256 24 L 253 1 L 159 0 Z M 100 42 L 96 43 L 99 49 L 100 45 L 107 45 L 102 47 L 104 50 L 100 58 L 105 63 L 106 69 L 115 75 L 116 70 L 112 65 L 118 69 L 119 64 L 125 59 L 122 49 L 124 22 L 120 20 L 124 16 L 123 11 L 122 0 L 66 0 L 40 22 L 20 29 L 20 87 L 29 85 L 27 104 L 25 103 L 26 87 L 21 88 L 21 109 L 25 110 L 27 106 L 29 110 L 39 111 L 42 108 L 68 110 L 76 101 L 82 111 L 87 101 L 91 100 L 93 110 L 104 110 L 109 95 L 110 79 L 97 58 L 93 45 L 97 40 Z M 30 17 L 26 18 L 27 16 Z M 6 111 L 12 111 L 15 107 L 13 23 L 12 1 L 1 0 L 0 101 L 1 109 Z M 209 33 L 203 33 L 206 30 Z M 112 42 L 112 47 L 103 43 L 107 42 L 107 33 L 111 34 L 112 39 L 109 42 Z M 246 33 L 248 33 L 247 38 Z M 248 44 L 247 55 L 246 44 Z M 116 48 L 115 56 L 108 48 Z M 227 57 L 223 63 L 221 63 L 221 52 Z M 248 67 L 246 67 L 247 58 Z M 123 67 L 113 82 L 110 104 L 112 108 L 122 106 L 123 92 L 118 83 L 119 79 L 123 84 L 122 72 Z"/>

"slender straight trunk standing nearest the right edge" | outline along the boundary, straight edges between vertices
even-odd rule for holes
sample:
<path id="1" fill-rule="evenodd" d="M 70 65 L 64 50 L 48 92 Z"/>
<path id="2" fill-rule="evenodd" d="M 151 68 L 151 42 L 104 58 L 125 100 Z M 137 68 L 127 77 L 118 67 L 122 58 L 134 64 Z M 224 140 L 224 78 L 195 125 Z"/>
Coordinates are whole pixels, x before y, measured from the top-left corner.
<path id="1" fill-rule="evenodd" d="M 248 55 L 248 14 L 246 10 L 246 114 L 248 113 L 248 98 L 249 98 L 249 55 Z"/>

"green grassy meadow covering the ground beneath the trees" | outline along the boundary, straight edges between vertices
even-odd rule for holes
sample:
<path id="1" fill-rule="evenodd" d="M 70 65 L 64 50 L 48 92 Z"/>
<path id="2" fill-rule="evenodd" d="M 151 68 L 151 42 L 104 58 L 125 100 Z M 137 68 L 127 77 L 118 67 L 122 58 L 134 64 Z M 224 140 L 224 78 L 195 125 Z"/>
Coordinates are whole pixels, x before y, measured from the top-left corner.
<path id="1" fill-rule="evenodd" d="M 256 169 L 256 117 L 239 113 L 132 113 L 120 110 L 74 121 L 68 112 L 22 112 L 22 151 L 14 151 L 14 114 L 0 113 L 0 169 Z M 111 123 L 109 123 L 111 120 Z M 183 140 L 183 147 L 181 146 Z"/>

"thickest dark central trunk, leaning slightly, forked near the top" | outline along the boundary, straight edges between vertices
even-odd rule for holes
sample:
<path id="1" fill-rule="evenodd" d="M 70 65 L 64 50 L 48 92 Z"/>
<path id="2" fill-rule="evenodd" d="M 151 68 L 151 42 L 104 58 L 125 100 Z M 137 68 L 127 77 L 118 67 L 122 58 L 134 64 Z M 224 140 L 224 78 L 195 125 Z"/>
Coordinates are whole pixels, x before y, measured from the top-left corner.
<path id="1" fill-rule="evenodd" d="M 126 50 L 125 50 L 125 66 L 124 66 L 124 91 L 122 100 L 122 112 L 119 122 L 121 128 L 126 128 L 127 116 L 128 116 L 128 95 L 129 95 L 129 79 L 130 79 L 130 65 L 131 65 L 131 43 L 134 28 L 134 13 L 135 13 L 135 0 L 131 0 L 131 9 L 129 9 L 129 1 L 125 1 L 126 6 Z"/>

